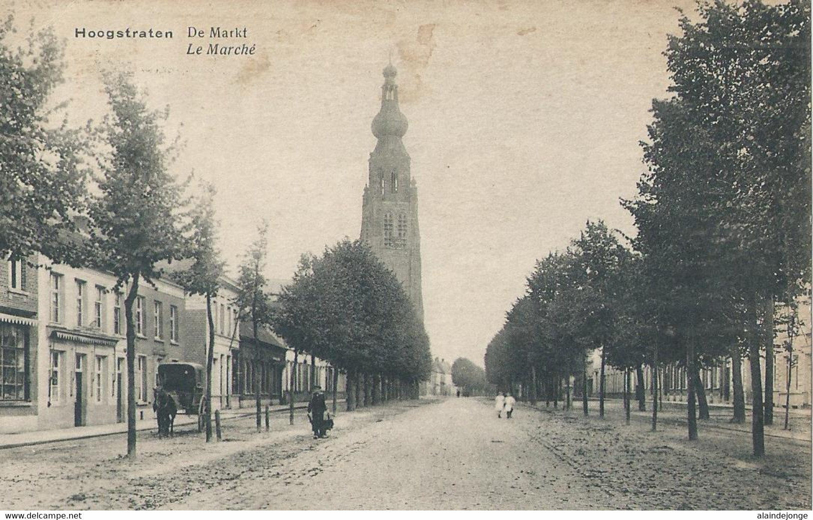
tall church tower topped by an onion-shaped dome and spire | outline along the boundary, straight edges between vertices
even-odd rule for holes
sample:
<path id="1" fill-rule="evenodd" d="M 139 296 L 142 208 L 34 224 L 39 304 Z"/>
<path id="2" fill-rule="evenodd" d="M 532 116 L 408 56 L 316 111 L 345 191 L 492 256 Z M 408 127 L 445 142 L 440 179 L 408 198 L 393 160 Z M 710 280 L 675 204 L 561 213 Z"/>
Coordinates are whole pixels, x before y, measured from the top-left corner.
<path id="1" fill-rule="evenodd" d="M 401 140 L 408 125 L 398 108 L 397 74 L 391 64 L 384 69 L 381 109 L 372 120 L 372 134 L 378 142 L 370 154 L 369 178 L 364 187 L 361 238 L 393 270 L 423 321 L 418 188 Z"/>

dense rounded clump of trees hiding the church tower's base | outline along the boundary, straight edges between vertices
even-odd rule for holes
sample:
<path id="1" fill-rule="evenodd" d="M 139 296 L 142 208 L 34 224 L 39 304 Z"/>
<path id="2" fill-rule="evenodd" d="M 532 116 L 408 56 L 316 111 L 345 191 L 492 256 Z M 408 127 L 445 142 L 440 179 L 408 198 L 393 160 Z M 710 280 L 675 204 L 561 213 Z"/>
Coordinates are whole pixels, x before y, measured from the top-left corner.
<path id="1" fill-rule="evenodd" d="M 345 239 L 322 256 L 302 256 L 279 304 L 273 326 L 294 360 L 311 354 L 346 372 L 348 410 L 418 397 L 431 369 L 428 336 L 401 283 L 366 243 Z M 337 378 L 334 371 L 334 413 Z"/>

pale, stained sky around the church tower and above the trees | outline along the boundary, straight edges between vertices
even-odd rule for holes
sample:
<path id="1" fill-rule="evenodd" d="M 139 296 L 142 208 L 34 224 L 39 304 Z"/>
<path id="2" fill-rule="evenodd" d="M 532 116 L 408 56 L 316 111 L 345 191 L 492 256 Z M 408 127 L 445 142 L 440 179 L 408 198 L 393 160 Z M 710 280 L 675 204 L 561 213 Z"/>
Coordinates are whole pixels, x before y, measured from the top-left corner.
<path id="1" fill-rule="evenodd" d="M 433 355 L 482 365 L 534 262 L 588 219 L 634 233 L 635 193 L 663 50 L 685 0 L 543 2 L 18 0 L 20 33 L 65 42 L 70 120 L 107 111 L 102 69 L 124 68 L 169 107 L 172 171 L 211 181 L 220 248 L 235 269 L 263 218 L 267 275 L 358 238 L 382 69 L 398 68 L 403 142 L 417 181 L 425 326 Z M 8 6 L 6 7 L 8 8 Z M 0 8 L 2 12 L 2 8 Z M 189 38 L 189 27 L 246 28 Z M 76 28 L 172 39 L 76 38 Z M 207 34 L 208 36 L 208 34 Z M 190 44 L 254 55 L 187 55 Z"/>

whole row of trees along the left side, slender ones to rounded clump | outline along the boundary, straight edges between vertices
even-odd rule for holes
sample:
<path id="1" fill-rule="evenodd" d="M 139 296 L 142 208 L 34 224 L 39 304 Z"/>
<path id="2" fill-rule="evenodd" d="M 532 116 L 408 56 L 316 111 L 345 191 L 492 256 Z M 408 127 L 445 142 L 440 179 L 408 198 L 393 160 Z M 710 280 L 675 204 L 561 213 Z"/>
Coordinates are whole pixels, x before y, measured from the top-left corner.
<path id="1" fill-rule="evenodd" d="M 186 260 L 185 268 L 173 277 L 207 301 L 211 403 L 211 301 L 225 265 L 216 247 L 215 190 L 202 183 L 190 195 L 191 176 L 178 181 L 172 173 L 178 140 L 167 143 L 164 137 L 168 110 L 150 110 L 128 73 L 104 74 L 109 111 L 103 120 L 81 129 L 70 128 L 67 117 L 50 122 L 65 107 L 50 100 L 63 81 L 63 48 L 48 28 L 33 33 L 22 48 L 10 42 L 13 33 L 10 16 L 0 26 L 0 256 L 28 260 L 42 253 L 54 263 L 115 275 L 114 290 L 126 292 L 128 456 L 135 457 L 133 304 L 142 282 L 154 285 L 166 265 L 178 260 Z M 315 353 L 348 370 L 350 381 L 376 374 L 393 382 L 380 386 L 388 395 L 396 391 L 395 381 L 398 391 L 408 384 L 415 393 L 416 382 L 428 374 L 428 339 L 393 274 L 362 244 L 340 243 L 322 258 L 303 261 L 284 291 L 283 310 L 274 312 L 263 275 L 267 229 L 267 223 L 260 226 L 238 269 L 234 302 L 237 322 L 251 322 L 255 342 L 259 327 L 274 326 L 296 352 Z M 379 387 L 367 378 L 365 383 Z M 259 385 L 257 392 L 259 430 Z M 293 411 L 293 399 L 291 404 Z M 211 406 L 205 423 L 211 440 Z"/>

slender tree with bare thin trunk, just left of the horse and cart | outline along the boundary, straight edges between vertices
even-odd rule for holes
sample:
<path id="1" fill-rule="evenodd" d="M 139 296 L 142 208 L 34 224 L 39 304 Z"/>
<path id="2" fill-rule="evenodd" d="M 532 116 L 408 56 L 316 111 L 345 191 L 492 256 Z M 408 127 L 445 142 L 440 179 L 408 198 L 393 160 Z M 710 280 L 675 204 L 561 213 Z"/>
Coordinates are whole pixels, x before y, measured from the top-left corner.
<path id="1" fill-rule="evenodd" d="M 136 456 L 136 327 L 133 303 L 141 281 L 161 277 L 157 265 L 185 256 L 181 212 L 183 186 L 169 172 L 172 146 L 164 146 L 160 121 L 168 112 L 151 111 L 133 77 L 106 76 L 111 115 L 102 125 L 109 154 L 100 159 L 102 175 L 89 204 L 88 262 L 113 273 L 116 289 L 128 284 L 127 452 Z"/>

